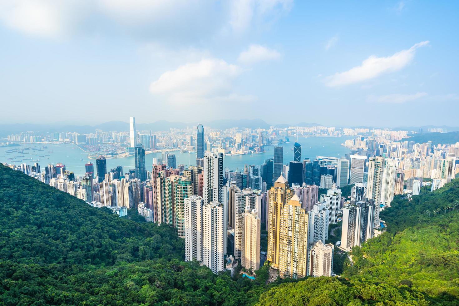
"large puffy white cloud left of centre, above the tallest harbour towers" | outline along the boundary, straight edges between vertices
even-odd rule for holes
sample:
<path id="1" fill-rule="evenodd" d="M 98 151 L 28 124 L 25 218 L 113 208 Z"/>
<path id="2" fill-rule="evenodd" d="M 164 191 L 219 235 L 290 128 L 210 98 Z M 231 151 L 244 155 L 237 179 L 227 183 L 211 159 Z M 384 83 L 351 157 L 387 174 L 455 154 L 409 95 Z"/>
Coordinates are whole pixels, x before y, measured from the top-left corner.
<path id="1" fill-rule="evenodd" d="M 169 102 L 189 105 L 209 101 L 244 100 L 252 97 L 232 92 L 242 68 L 220 59 L 207 58 L 164 72 L 151 83 L 150 91 Z"/>

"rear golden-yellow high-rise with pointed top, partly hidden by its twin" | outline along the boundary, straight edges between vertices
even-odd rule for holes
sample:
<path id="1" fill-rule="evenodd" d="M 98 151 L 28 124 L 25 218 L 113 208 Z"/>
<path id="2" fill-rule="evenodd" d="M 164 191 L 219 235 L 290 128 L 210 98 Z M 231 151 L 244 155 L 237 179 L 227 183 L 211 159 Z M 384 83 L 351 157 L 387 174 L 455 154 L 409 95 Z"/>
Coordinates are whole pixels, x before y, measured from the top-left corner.
<path id="1" fill-rule="evenodd" d="M 271 267 L 279 269 L 280 254 L 280 213 L 290 198 L 293 191 L 290 189 L 287 180 L 281 175 L 274 186 L 269 189 L 268 195 L 268 254 L 267 260 Z"/>

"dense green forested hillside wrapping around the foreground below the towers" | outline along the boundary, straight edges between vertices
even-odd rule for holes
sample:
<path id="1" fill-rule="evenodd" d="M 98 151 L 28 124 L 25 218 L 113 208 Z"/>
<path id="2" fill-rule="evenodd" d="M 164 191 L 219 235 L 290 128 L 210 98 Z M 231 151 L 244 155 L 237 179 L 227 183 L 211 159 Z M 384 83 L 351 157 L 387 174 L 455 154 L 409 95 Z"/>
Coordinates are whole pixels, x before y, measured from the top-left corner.
<path id="1" fill-rule="evenodd" d="M 265 285 L 268 267 L 255 281 L 214 275 L 183 261 L 173 228 L 119 218 L 0 164 L 0 305 L 457 305 L 458 213 L 423 211 L 457 200 L 458 184 L 394 200 L 383 219 L 399 216 L 395 232 L 354 250 L 345 277 Z M 389 216 L 400 208 L 417 215 Z"/>

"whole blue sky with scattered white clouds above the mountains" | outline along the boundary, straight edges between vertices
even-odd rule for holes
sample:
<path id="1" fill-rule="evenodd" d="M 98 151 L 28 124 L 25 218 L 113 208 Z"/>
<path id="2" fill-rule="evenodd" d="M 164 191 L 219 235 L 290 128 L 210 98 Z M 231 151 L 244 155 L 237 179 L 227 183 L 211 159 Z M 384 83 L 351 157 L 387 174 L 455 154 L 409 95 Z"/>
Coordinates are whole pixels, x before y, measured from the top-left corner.
<path id="1" fill-rule="evenodd" d="M 0 0 L 2 123 L 458 125 L 458 1 Z"/>

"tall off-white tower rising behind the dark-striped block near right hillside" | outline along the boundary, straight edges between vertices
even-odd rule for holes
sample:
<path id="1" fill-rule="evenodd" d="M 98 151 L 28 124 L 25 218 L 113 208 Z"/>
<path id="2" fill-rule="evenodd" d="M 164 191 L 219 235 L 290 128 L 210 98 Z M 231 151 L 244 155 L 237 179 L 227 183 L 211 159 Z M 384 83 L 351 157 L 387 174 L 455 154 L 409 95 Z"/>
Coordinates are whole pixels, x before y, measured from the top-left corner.
<path id="1" fill-rule="evenodd" d="M 368 161 L 368 182 L 367 194 L 368 200 L 375 202 L 375 226 L 379 226 L 381 222 L 379 218 L 379 210 L 381 204 L 381 189 L 382 189 L 382 174 L 384 172 L 384 157 L 372 157 Z"/>

